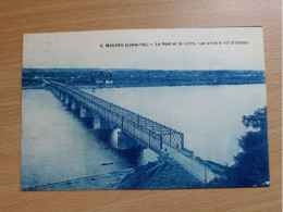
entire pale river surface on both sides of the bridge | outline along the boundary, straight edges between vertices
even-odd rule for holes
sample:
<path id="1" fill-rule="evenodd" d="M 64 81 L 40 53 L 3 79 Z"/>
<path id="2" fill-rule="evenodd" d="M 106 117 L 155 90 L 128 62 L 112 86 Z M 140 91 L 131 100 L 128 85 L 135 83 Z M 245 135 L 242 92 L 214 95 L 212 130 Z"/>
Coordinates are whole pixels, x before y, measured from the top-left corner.
<path id="1" fill-rule="evenodd" d="M 243 115 L 266 102 L 264 85 L 104 88 L 89 93 L 183 132 L 202 159 L 233 164 Z M 22 91 L 22 188 L 102 174 L 156 161 L 146 149 L 116 151 L 116 130 L 90 130 L 50 91 Z M 111 165 L 101 162 L 113 161 Z"/>

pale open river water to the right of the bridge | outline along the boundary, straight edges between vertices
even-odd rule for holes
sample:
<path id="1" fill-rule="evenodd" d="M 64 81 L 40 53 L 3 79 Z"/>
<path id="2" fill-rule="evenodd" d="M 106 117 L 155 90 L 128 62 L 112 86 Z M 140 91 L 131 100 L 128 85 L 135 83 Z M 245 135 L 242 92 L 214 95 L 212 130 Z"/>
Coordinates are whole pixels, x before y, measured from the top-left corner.
<path id="1" fill-rule="evenodd" d="M 112 103 L 184 133 L 185 147 L 202 159 L 233 164 L 243 115 L 266 102 L 266 85 L 86 89 Z"/>

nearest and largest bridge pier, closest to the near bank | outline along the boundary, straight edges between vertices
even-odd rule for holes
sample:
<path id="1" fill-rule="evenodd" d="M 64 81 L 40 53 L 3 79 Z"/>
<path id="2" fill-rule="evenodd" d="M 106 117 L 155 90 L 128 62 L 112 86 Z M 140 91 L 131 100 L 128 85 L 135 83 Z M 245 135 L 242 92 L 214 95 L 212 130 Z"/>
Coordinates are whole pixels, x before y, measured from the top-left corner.
<path id="1" fill-rule="evenodd" d="M 135 139 L 126 135 L 125 133 L 118 132 L 118 149 L 128 150 L 128 149 L 144 149 Z"/>

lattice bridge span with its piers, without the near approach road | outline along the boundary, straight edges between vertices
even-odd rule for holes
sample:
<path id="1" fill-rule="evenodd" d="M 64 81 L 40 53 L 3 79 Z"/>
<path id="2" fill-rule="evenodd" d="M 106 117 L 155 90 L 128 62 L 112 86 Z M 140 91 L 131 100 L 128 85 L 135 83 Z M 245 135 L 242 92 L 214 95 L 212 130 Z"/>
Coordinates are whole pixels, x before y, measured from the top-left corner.
<path id="1" fill-rule="evenodd" d="M 163 144 L 179 150 L 184 149 L 184 134 L 131 112 L 78 88 L 57 82 L 48 82 L 49 89 L 71 110 L 79 110 L 81 117 L 93 117 L 94 129 L 120 128 L 119 149 L 145 146 L 161 154 Z"/>

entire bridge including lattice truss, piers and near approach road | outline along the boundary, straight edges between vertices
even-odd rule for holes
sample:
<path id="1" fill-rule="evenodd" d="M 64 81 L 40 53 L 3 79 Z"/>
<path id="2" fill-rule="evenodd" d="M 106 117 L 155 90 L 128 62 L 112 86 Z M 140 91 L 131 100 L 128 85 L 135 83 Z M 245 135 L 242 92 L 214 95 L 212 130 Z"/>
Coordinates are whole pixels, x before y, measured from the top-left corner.
<path id="1" fill-rule="evenodd" d="M 52 91 L 71 110 L 77 110 L 81 117 L 91 117 L 94 129 L 118 127 L 118 149 L 125 150 L 146 147 L 161 158 L 171 158 L 206 183 L 219 176 L 218 167 L 197 159 L 184 148 L 184 134 L 157 123 L 101 98 L 89 95 L 76 87 L 58 82 L 47 82 L 46 88 Z"/>

